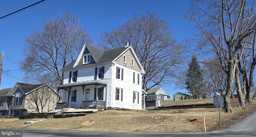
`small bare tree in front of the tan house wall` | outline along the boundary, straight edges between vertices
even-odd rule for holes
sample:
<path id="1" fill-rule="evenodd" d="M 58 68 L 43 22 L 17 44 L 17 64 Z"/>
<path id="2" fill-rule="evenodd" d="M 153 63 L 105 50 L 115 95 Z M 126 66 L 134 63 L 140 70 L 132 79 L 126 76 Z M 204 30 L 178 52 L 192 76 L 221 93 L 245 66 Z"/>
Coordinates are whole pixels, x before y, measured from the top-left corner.
<path id="1" fill-rule="evenodd" d="M 37 113 L 42 113 L 44 110 L 53 110 L 57 103 L 57 94 L 48 85 L 42 86 L 28 92 L 26 100 L 28 100 L 28 106 L 30 110 L 36 110 Z M 47 109 L 44 109 L 47 107 Z"/>

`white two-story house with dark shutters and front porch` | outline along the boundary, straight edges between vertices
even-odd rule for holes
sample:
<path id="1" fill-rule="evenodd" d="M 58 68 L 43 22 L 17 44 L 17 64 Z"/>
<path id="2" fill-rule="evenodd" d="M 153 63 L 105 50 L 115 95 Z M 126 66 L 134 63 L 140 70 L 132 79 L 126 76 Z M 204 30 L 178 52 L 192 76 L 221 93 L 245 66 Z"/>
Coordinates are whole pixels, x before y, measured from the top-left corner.
<path id="1" fill-rule="evenodd" d="M 103 51 L 84 45 L 78 58 L 62 68 L 62 103 L 57 107 L 142 109 L 145 71 L 129 43 Z"/>

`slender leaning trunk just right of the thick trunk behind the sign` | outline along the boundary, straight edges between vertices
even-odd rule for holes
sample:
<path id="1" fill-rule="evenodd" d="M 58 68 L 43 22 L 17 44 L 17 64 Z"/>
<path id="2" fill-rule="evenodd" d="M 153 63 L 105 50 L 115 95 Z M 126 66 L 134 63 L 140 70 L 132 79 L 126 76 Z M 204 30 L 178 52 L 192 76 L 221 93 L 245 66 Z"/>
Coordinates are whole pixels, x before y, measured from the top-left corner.
<path id="1" fill-rule="evenodd" d="M 242 88 L 241 88 L 241 84 L 240 84 L 240 77 L 239 77 L 239 72 L 238 72 L 238 67 L 236 67 L 235 70 L 235 77 L 236 77 L 236 92 L 238 94 L 238 98 L 239 98 L 239 103 L 238 103 L 238 108 L 245 108 L 245 104 L 244 104 L 244 95 L 242 94 Z"/>

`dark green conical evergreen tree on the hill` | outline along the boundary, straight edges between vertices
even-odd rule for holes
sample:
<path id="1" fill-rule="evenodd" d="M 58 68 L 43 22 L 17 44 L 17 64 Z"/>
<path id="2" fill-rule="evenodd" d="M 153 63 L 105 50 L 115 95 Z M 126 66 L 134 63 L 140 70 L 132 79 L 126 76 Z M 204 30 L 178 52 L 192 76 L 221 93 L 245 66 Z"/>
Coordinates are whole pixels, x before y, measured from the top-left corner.
<path id="1" fill-rule="evenodd" d="M 204 93 L 204 78 L 200 65 L 195 56 L 192 56 L 186 72 L 186 87 L 192 94 L 192 98 L 201 98 Z"/>

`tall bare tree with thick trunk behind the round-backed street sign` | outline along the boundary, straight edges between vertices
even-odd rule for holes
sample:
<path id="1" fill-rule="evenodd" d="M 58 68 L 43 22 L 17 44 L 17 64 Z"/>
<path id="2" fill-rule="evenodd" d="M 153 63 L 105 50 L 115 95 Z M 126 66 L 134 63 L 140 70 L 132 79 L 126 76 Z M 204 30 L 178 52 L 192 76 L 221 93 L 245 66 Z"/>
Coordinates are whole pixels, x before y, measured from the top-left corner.
<path id="1" fill-rule="evenodd" d="M 200 46 L 211 46 L 227 74 L 224 112 L 233 114 L 230 96 L 236 64 L 242 57 L 246 38 L 256 29 L 255 1 L 194 0 L 186 18 L 196 22 Z"/>

